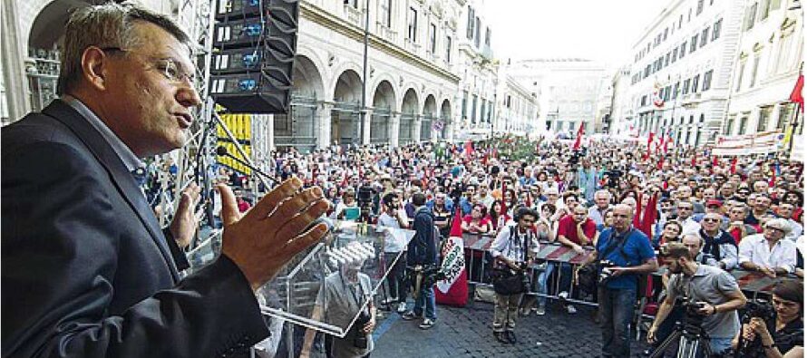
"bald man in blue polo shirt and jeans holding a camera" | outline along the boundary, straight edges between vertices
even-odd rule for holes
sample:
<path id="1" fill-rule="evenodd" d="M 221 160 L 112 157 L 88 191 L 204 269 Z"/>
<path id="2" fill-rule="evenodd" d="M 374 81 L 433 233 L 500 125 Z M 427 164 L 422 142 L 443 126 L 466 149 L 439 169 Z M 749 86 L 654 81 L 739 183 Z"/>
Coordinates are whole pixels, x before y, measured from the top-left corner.
<path id="1" fill-rule="evenodd" d="M 597 251 L 590 257 L 614 264 L 603 268 L 609 278 L 598 288 L 603 357 L 630 356 L 628 324 L 633 318 L 638 277 L 658 269 L 647 235 L 631 226 L 633 215 L 633 208 L 618 204 L 614 208 L 614 227 L 602 232 Z"/>

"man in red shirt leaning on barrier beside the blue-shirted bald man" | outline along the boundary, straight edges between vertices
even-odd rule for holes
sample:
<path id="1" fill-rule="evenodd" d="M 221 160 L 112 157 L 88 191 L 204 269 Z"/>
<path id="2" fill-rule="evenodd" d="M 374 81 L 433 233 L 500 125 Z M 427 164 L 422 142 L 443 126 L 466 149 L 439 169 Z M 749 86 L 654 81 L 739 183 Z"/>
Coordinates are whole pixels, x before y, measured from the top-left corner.
<path id="1" fill-rule="evenodd" d="M 571 247 L 578 254 L 583 254 L 583 247 L 590 247 L 594 245 L 599 233 L 597 232 L 597 224 L 594 220 L 588 218 L 588 208 L 585 205 L 578 205 L 572 209 L 571 214 L 560 219 L 558 223 L 558 241 L 560 244 Z M 566 311 L 569 314 L 577 313 L 577 309 L 573 305 L 566 305 L 565 301 L 569 298 L 569 291 L 571 291 L 571 265 L 569 263 L 560 263 L 560 293 L 558 297 L 562 305 L 566 306 Z"/>

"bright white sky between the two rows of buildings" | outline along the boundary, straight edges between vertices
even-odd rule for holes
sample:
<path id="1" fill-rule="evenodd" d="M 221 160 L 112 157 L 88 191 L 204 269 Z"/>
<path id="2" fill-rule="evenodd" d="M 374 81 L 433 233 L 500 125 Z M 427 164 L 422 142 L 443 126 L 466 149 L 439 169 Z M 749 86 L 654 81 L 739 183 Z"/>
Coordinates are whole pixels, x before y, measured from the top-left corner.
<path id="1" fill-rule="evenodd" d="M 502 60 L 581 57 L 616 66 L 669 0 L 486 0 L 492 48 Z"/>

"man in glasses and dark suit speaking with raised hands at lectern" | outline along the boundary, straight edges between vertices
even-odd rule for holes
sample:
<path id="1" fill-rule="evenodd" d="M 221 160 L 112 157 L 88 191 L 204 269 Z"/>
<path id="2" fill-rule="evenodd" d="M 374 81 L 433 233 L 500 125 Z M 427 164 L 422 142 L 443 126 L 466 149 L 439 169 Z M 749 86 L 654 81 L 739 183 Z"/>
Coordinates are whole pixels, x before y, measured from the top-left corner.
<path id="1" fill-rule="evenodd" d="M 131 172 L 188 140 L 189 45 L 135 5 L 79 9 L 62 98 L 2 130 L 4 357 L 219 356 L 266 338 L 254 291 L 326 234 L 303 231 L 329 204 L 289 179 L 242 218 L 220 186 L 222 254 L 180 281 L 199 189 L 163 231 Z"/>

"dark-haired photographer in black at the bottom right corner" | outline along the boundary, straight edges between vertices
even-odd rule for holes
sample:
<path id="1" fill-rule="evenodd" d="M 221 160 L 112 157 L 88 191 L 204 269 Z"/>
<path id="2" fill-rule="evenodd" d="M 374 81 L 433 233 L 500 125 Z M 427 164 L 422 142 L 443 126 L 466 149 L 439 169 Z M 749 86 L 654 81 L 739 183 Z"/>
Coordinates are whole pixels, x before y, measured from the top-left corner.
<path id="1" fill-rule="evenodd" d="M 744 357 L 783 357 L 784 354 L 802 350 L 804 345 L 804 285 L 797 280 L 783 280 L 773 288 L 773 308 L 776 310 L 775 330 L 768 331 L 760 317 L 753 317 L 743 324 L 743 340 L 753 346 L 759 343 L 762 352 L 746 353 Z M 740 334 L 734 337 L 734 349 L 740 343 Z M 801 355 L 803 356 L 803 355 Z"/>

